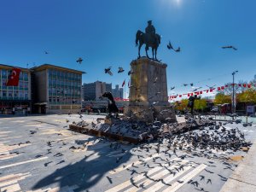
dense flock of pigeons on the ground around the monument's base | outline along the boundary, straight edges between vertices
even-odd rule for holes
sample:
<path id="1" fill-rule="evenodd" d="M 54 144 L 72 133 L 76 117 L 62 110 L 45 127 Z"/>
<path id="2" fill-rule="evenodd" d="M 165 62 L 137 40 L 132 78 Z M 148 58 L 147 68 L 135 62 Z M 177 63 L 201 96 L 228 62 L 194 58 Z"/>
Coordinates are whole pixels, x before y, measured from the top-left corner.
<path id="1" fill-rule="evenodd" d="M 195 119 L 185 117 L 185 125 L 163 123 L 158 120 L 145 123 L 129 119 L 116 119 L 112 125 L 102 124 L 101 120 L 87 123 L 81 114 L 80 119 L 82 121 L 77 125 L 81 127 L 89 126 L 92 129 L 109 131 L 120 136 L 138 137 L 143 142 L 143 146 L 147 146 L 145 143 L 156 142 L 158 143 L 155 148 L 157 153 L 160 153 L 160 145 L 166 143 L 167 151 L 172 150 L 174 154 L 179 149 L 192 155 L 223 158 L 224 156 L 216 156 L 215 152 L 222 151 L 224 153 L 226 151 L 228 154 L 232 154 L 245 148 L 248 149 L 252 144 L 246 141 L 244 132 L 229 126 L 230 124 L 241 124 L 241 119 L 217 122 L 207 116 L 203 118 L 198 116 Z M 252 126 L 252 123 L 242 125 Z"/>

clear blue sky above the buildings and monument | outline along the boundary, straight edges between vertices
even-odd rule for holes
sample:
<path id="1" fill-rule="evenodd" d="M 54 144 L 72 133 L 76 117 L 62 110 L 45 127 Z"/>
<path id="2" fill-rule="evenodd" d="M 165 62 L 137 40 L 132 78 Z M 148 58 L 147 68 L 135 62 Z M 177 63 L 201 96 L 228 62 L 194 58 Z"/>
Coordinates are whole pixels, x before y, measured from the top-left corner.
<path id="1" fill-rule="evenodd" d="M 255 7 L 254 0 L 1 1 L 0 63 L 50 63 L 87 72 L 85 83 L 122 84 L 137 58 L 135 34 L 153 20 L 162 36 L 158 58 L 168 65 L 170 94 L 172 86 L 175 93 L 191 90 L 184 83 L 228 83 L 235 70 L 236 80 L 248 81 L 256 74 Z M 182 51 L 166 49 L 169 40 Z M 238 50 L 221 49 L 224 45 Z M 104 73 L 109 66 L 113 76 Z M 119 66 L 125 73 L 117 73 Z"/>

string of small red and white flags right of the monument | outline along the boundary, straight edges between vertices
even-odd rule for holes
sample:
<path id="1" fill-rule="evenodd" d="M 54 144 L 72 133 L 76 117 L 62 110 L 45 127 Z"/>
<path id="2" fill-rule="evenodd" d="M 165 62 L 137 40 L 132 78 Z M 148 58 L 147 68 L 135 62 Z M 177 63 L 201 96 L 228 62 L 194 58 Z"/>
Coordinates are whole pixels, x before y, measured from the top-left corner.
<path id="1" fill-rule="evenodd" d="M 189 93 L 183 93 L 183 94 L 178 94 L 178 95 L 175 95 L 175 96 L 169 96 L 169 99 L 172 100 L 172 99 L 176 99 L 176 98 L 181 98 L 183 96 L 194 96 L 194 95 L 197 95 L 197 96 L 200 96 L 201 94 L 205 94 L 205 93 L 212 93 L 213 90 L 224 90 L 226 89 L 227 87 L 229 86 L 235 86 L 235 85 L 238 85 L 239 87 L 244 87 L 244 88 L 251 88 L 252 86 L 256 87 L 256 84 L 225 84 L 224 86 L 219 86 L 217 88 L 212 88 L 212 89 L 208 89 L 208 90 L 198 90 L 198 91 L 195 91 L 195 92 L 189 92 Z"/>

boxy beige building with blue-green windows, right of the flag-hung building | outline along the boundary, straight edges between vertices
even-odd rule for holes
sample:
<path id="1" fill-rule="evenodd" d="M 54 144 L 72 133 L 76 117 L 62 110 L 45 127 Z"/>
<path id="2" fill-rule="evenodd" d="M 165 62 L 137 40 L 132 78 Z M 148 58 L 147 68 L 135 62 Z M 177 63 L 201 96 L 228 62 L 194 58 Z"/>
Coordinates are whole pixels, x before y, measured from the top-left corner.
<path id="1" fill-rule="evenodd" d="M 35 113 L 77 113 L 81 108 L 84 72 L 44 64 L 32 69 L 32 101 Z"/>

